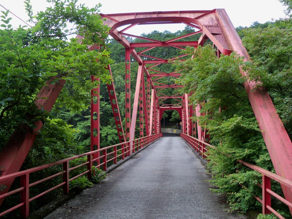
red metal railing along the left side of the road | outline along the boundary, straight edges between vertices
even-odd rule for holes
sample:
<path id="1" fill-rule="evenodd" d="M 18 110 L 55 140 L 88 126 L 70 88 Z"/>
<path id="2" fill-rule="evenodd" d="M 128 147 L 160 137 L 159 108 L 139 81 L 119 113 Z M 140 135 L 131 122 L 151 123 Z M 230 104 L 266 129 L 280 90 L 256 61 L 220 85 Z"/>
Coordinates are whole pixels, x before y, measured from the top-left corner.
<path id="1" fill-rule="evenodd" d="M 161 138 L 162 137 L 162 133 L 158 133 L 158 134 L 154 134 L 154 135 L 149 135 L 149 136 L 145 136 L 145 137 L 142 137 L 142 138 L 137 138 L 135 140 L 131 140 L 131 141 L 127 141 L 127 142 L 123 142 L 123 143 L 119 143 L 119 144 L 116 144 L 116 145 L 112 145 L 112 146 L 109 146 L 109 147 L 104 147 L 104 148 L 101 148 L 101 149 L 98 149 L 98 150 L 95 150 L 95 151 L 91 151 L 91 152 L 87 152 L 87 153 L 84 153 L 84 154 L 79 154 L 79 155 L 76 155 L 74 157 L 69 157 L 69 158 L 66 158 L 66 159 L 62 159 L 60 161 L 56 161 L 56 162 L 53 162 L 51 164 L 45 164 L 45 165 L 42 165 L 42 166 L 37 166 L 37 167 L 34 167 L 34 168 L 30 168 L 28 170 L 24 170 L 24 171 L 20 171 L 20 172 L 17 172 L 17 173 L 12 173 L 12 174 L 9 174 L 9 175 L 5 175 L 5 176 L 1 176 L 0 177 L 0 183 L 1 182 L 4 182 L 6 180 L 9 180 L 9 179 L 14 179 L 16 177 L 20 177 L 20 188 L 18 189 L 15 189 L 15 190 L 12 190 L 10 192 L 7 192 L 5 194 L 2 194 L 0 195 L 0 199 L 3 199 L 5 197 L 8 197 L 12 194 L 15 194 L 17 192 L 20 192 L 20 204 L 12 207 L 12 208 L 9 208 L 8 210 L 6 211 L 3 211 L 0 213 L 0 217 L 3 216 L 3 215 L 6 215 L 7 213 L 11 212 L 11 211 L 14 211 L 18 208 L 20 208 L 20 215 L 22 218 L 27 218 L 28 215 L 29 215 L 29 202 L 43 196 L 44 194 L 47 194 L 48 192 L 51 192 L 59 187 L 63 187 L 63 192 L 64 194 L 68 194 L 69 193 L 69 182 L 84 175 L 84 174 L 87 174 L 87 177 L 90 179 L 91 178 L 91 168 L 92 168 L 92 164 L 94 161 L 97 161 L 98 159 L 102 159 L 100 161 L 100 164 L 98 166 L 96 166 L 97 168 L 102 166 L 103 167 L 103 170 L 105 171 L 107 169 L 107 163 L 109 161 L 114 161 L 114 164 L 117 164 L 117 159 L 121 156 L 121 159 L 124 159 L 125 156 L 128 156 L 130 155 L 131 153 L 134 153 L 135 151 L 138 151 L 139 149 L 141 149 L 142 147 L 146 146 L 147 144 L 150 144 L 151 142 L 153 142 L 154 140 L 157 140 L 158 138 Z M 113 151 L 112 152 L 109 152 L 107 153 L 107 151 L 109 151 L 109 149 L 112 149 L 113 148 Z M 121 151 L 121 154 L 117 155 L 118 152 Z M 93 154 L 96 154 L 98 152 L 102 152 L 102 156 L 100 157 L 97 157 L 95 159 L 92 159 L 92 155 Z M 107 156 L 108 155 L 111 155 L 113 154 L 113 158 L 111 159 L 107 159 Z M 83 164 L 79 164 L 77 166 L 74 166 L 74 167 L 71 167 L 69 168 L 69 161 L 72 161 L 74 159 L 77 159 L 77 158 L 80 158 L 80 157 L 85 157 L 87 156 L 87 161 Z M 43 169 L 46 169 L 48 167 L 51 167 L 51 166 L 55 166 L 55 165 L 58 165 L 58 164 L 63 164 L 63 171 L 59 172 L 59 173 L 56 173 L 54 175 L 51 175 L 51 176 L 48 176 L 42 180 L 39 180 L 39 181 L 36 181 L 36 182 L 33 182 L 33 183 L 30 183 L 29 181 L 29 174 L 30 173 L 34 173 L 36 171 L 40 171 L 40 170 L 43 170 Z M 69 178 L 69 172 L 76 169 L 76 168 L 79 168 L 81 166 L 87 166 L 87 170 L 83 173 L 80 173 L 79 175 L 77 176 L 74 176 L 73 178 Z M 29 188 L 34 186 L 34 185 L 38 185 L 39 183 L 43 183 L 45 182 L 46 180 L 50 180 L 52 178 L 55 178 L 56 176 L 59 176 L 59 175 L 63 175 L 63 182 L 40 193 L 40 194 L 37 194 L 36 196 L 34 197 L 31 197 L 29 198 Z M 5 183 L 2 183 L 5 185 Z"/>

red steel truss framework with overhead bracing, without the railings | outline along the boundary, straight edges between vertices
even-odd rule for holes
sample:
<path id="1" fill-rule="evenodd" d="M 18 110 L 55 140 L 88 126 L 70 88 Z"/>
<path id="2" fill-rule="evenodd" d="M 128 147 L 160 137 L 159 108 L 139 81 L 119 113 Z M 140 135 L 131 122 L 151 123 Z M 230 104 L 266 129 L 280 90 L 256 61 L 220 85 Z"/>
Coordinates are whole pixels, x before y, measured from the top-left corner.
<path id="1" fill-rule="evenodd" d="M 171 80 L 169 80 L 169 83 L 167 84 L 161 83 L 159 81 L 159 79 L 162 77 L 178 78 L 180 77 L 180 72 L 160 72 L 155 69 L 155 67 L 158 65 L 171 65 L 175 59 L 180 59 L 183 61 L 184 57 L 187 55 L 180 55 L 173 58 L 164 58 L 150 56 L 146 54 L 146 52 L 157 47 L 174 47 L 180 50 L 184 50 L 185 46 L 192 46 L 197 48 L 197 46 L 203 46 L 204 43 L 210 39 L 217 48 L 218 56 L 221 53 L 230 55 L 232 51 L 236 51 L 239 53 L 239 55 L 244 56 L 246 61 L 250 60 L 248 53 L 242 45 L 241 40 L 236 30 L 234 29 L 226 11 L 224 9 L 213 9 L 206 11 L 157 11 L 100 15 L 102 18 L 104 18 L 104 24 L 108 27 L 111 27 L 109 35 L 125 47 L 125 128 L 123 128 L 121 125 L 122 118 L 119 112 L 114 84 L 112 83 L 108 86 L 113 115 L 116 121 L 120 141 L 125 142 L 128 139 L 130 141 L 134 139 L 135 124 L 137 120 L 140 123 L 140 136 L 144 135 L 144 123 L 146 135 L 159 133 L 160 120 L 162 118 L 163 112 L 165 110 L 177 110 L 182 121 L 182 132 L 193 136 L 197 133 L 200 140 L 208 142 L 208 130 L 202 130 L 196 121 L 192 121 L 190 119 L 190 117 L 193 117 L 194 115 L 199 116 L 202 114 L 202 112 L 200 112 L 201 104 L 195 106 L 190 105 L 188 100 L 188 96 L 190 94 L 180 93 L 179 91 L 182 85 L 176 83 L 171 84 Z M 146 37 L 126 33 L 127 30 L 135 27 L 136 25 L 166 25 L 175 23 L 189 25 L 194 27 L 195 31 L 190 34 L 168 39 L 167 41 L 149 39 Z M 183 38 L 192 36 L 194 34 L 200 34 L 199 40 L 182 40 Z M 135 37 L 147 42 L 130 43 L 124 36 Z M 97 45 L 89 46 L 89 50 L 96 48 L 98 48 Z M 136 48 L 142 48 L 142 51 L 137 52 L 135 50 Z M 139 65 L 133 100 L 133 109 L 131 109 L 132 100 L 130 91 L 130 55 L 138 62 Z M 110 66 L 108 66 L 107 69 L 110 71 Z M 246 75 L 245 72 L 241 73 L 242 75 Z M 98 78 L 93 78 L 92 80 L 98 80 Z M 63 83 L 65 83 L 65 81 Z M 278 175 L 288 180 L 292 180 L 291 140 L 279 118 L 279 115 L 276 112 L 271 98 L 267 94 L 267 91 L 263 87 L 254 89 L 255 85 L 255 82 L 246 82 L 244 87 L 258 121 L 259 127 L 262 130 L 263 138 L 271 155 L 274 168 Z M 56 98 L 60 93 L 60 90 L 62 89 L 62 86 L 59 86 L 58 84 L 50 86 L 52 86 L 50 90 L 47 89 L 49 86 L 42 88 L 38 95 L 38 99 L 35 101 L 38 107 L 45 107 L 48 111 L 53 106 Z M 174 95 L 165 95 L 163 93 L 164 89 L 177 90 L 177 93 Z M 176 101 L 169 104 L 169 102 L 167 102 L 169 99 Z M 93 119 L 95 117 L 91 115 L 91 146 L 92 148 L 99 148 L 99 139 L 98 137 L 93 136 L 92 133 L 93 129 L 97 129 L 97 133 L 99 133 L 99 102 L 92 103 L 91 113 L 96 113 L 98 116 L 98 119 L 96 120 Z M 137 119 L 137 114 L 139 119 Z M 37 128 L 35 128 L 34 131 L 39 130 L 42 124 L 40 122 L 36 122 L 36 125 Z M 19 170 L 34 142 L 36 132 L 25 133 L 23 132 L 25 128 L 29 130 L 29 127 L 22 127 L 22 129 L 18 129 L 15 131 L 15 133 L 13 133 L 11 140 L 8 141 L 3 152 L 0 154 L 0 166 L 3 167 L 2 170 L 4 171 L 4 175 L 14 173 Z M 13 136 L 18 136 L 18 138 L 14 138 Z M 17 142 L 15 142 L 15 139 L 17 139 Z M 124 146 L 125 148 L 127 147 L 127 145 Z M 131 150 L 128 150 L 127 155 L 129 154 L 131 154 Z M 9 189 L 12 181 L 13 180 L 6 183 L 6 191 Z M 284 186 L 282 188 L 286 199 L 291 202 L 291 189 L 288 189 Z"/>

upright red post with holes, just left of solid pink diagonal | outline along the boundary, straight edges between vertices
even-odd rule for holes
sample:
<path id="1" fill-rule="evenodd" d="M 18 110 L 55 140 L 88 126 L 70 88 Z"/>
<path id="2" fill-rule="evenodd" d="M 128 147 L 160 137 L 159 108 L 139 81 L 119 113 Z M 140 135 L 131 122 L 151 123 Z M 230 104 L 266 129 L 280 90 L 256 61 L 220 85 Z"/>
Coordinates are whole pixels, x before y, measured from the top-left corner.
<path id="1" fill-rule="evenodd" d="M 130 48 L 125 48 L 125 116 L 126 116 L 126 141 L 130 139 L 131 128 L 131 83 L 130 83 Z M 129 150 L 129 149 L 128 149 Z"/>

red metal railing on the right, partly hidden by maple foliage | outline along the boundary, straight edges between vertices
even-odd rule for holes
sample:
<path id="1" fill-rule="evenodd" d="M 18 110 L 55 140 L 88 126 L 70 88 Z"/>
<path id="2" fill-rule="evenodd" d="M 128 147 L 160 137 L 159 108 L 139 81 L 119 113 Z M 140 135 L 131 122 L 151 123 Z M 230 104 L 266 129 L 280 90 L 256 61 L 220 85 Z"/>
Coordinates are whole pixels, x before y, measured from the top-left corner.
<path id="1" fill-rule="evenodd" d="M 206 158 L 208 147 L 213 148 L 215 150 L 218 150 L 213 145 L 210 145 L 204 141 L 201 141 L 197 138 L 194 138 L 190 135 L 187 135 L 185 133 L 180 133 L 180 137 L 183 138 L 194 150 L 196 150 L 200 155 L 203 156 L 203 158 Z M 228 156 L 228 155 L 226 155 Z M 208 161 L 208 160 L 207 160 Z M 270 171 L 267 171 L 263 168 L 260 168 L 259 166 L 256 166 L 251 163 L 244 162 L 242 160 L 238 160 L 241 164 L 244 164 L 245 166 L 259 172 L 262 174 L 262 184 L 257 184 L 259 187 L 262 188 L 262 194 L 263 199 L 260 199 L 258 196 L 253 196 L 256 200 L 258 200 L 262 206 L 263 206 L 263 214 L 270 214 L 273 213 L 278 218 L 284 218 L 282 215 L 280 215 L 277 211 L 275 211 L 271 207 L 271 195 L 277 198 L 279 201 L 286 204 L 289 208 L 292 208 L 292 203 L 283 197 L 279 196 L 275 192 L 271 190 L 271 179 L 277 181 L 281 184 L 281 187 L 286 187 L 286 189 L 292 189 L 292 181 L 285 179 L 284 177 L 281 177 L 275 173 L 272 173 Z M 241 185 L 242 186 L 242 185 Z"/>

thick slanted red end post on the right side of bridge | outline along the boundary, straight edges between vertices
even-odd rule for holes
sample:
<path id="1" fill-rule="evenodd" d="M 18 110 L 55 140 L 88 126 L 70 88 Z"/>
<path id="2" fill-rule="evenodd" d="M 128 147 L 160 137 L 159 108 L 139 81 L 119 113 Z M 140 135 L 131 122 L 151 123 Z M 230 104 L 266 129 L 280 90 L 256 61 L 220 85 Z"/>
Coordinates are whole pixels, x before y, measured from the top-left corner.
<path id="1" fill-rule="evenodd" d="M 222 23 L 224 32 L 226 32 L 233 50 L 237 51 L 239 55 L 244 56 L 245 61 L 250 60 L 226 11 L 224 9 L 216 9 L 215 15 L 220 23 Z M 220 52 L 225 53 L 222 50 Z M 245 76 L 246 72 L 242 72 L 242 74 Z M 264 87 L 254 89 L 256 85 L 253 81 L 244 83 L 253 112 L 260 130 L 262 130 L 267 150 L 277 175 L 292 180 L 292 142 L 266 89 Z M 285 198 L 292 202 L 292 190 L 284 186 L 282 186 L 282 190 Z M 290 212 L 292 213 L 291 208 Z"/>

